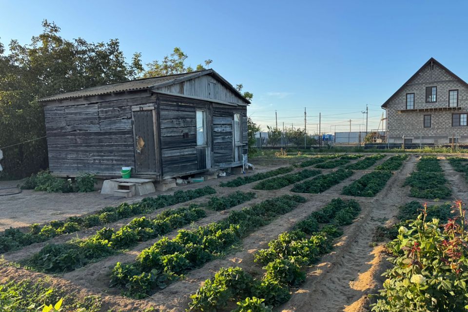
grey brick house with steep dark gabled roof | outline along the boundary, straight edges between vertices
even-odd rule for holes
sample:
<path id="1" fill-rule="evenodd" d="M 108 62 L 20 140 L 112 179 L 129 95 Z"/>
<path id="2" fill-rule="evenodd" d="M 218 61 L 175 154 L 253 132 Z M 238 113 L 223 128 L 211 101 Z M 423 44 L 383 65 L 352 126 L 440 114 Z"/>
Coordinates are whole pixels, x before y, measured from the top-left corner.
<path id="1" fill-rule="evenodd" d="M 389 143 L 468 143 L 468 84 L 433 58 L 382 108 Z"/>

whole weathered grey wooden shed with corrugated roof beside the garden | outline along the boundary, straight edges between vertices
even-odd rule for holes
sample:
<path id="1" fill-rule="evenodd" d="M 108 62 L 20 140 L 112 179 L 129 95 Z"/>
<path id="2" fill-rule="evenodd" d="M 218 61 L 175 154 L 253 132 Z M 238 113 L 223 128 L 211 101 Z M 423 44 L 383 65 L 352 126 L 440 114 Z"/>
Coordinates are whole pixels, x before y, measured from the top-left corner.
<path id="1" fill-rule="evenodd" d="M 247 106 L 212 69 L 86 88 L 39 99 L 56 176 L 121 167 L 162 180 L 247 162 Z"/>

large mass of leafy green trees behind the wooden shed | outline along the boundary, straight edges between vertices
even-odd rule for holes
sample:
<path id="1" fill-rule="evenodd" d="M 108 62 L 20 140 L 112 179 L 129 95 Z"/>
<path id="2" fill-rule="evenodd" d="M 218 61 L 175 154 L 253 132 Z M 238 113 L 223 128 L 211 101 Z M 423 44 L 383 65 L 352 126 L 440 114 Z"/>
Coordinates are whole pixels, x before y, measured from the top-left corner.
<path id="1" fill-rule="evenodd" d="M 38 98 L 117 81 L 194 70 L 185 65 L 188 56 L 178 47 L 145 68 L 140 53 L 135 53 L 127 63 L 118 39 L 98 43 L 82 38 L 67 40 L 60 36 L 60 28 L 54 22 L 44 20 L 42 27 L 42 33 L 32 37 L 29 44 L 20 45 L 18 40 L 11 40 L 9 54 L 0 42 L 3 177 L 5 174 L 12 178 L 29 176 L 48 166 L 44 113 Z M 204 66 L 198 64 L 196 70 L 203 70 L 212 62 L 205 60 Z M 244 96 L 253 97 L 250 92 L 244 92 Z"/>

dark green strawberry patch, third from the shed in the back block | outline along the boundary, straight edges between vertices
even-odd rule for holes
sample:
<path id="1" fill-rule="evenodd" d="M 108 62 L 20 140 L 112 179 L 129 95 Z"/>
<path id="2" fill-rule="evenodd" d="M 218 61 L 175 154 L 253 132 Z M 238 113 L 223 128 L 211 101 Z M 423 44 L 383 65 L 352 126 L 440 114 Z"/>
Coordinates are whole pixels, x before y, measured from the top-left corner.
<path id="1" fill-rule="evenodd" d="M 351 170 L 339 169 L 330 174 L 320 175 L 302 183 L 294 184 L 291 191 L 296 193 L 321 193 L 353 174 Z"/>

